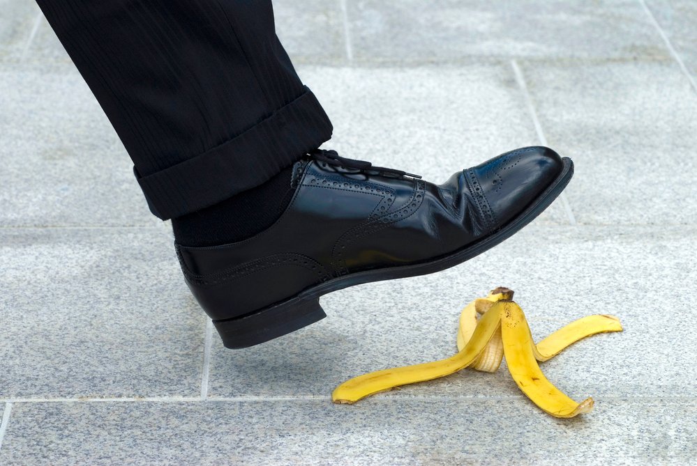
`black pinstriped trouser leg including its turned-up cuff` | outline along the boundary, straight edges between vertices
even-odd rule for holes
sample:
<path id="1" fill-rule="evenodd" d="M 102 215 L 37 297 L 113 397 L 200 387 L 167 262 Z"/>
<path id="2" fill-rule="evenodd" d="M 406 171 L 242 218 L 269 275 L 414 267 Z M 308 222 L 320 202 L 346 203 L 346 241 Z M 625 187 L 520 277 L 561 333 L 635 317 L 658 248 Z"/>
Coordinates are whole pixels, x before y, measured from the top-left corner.
<path id="1" fill-rule="evenodd" d="M 37 3 L 161 219 L 260 185 L 331 137 L 271 0 Z"/>

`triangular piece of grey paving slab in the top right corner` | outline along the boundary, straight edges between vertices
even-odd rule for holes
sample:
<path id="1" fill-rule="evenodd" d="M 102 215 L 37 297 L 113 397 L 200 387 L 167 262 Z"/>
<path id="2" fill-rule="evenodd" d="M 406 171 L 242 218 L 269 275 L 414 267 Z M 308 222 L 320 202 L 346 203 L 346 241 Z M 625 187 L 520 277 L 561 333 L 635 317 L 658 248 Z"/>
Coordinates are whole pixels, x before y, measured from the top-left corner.
<path id="1" fill-rule="evenodd" d="M 654 18 L 697 79 L 697 3 L 691 0 L 644 0 Z"/>

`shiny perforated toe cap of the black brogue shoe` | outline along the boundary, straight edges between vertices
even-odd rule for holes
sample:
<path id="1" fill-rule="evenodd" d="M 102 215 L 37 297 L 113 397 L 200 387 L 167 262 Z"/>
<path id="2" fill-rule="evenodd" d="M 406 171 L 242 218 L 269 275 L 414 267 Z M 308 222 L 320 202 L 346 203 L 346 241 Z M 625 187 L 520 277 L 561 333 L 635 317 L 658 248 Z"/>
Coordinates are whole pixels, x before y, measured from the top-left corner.
<path id="1" fill-rule="evenodd" d="M 562 167 L 562 157 L 550 148 L 512 150 L 470 169 L 471 176 L 476 178 L 472 194 L 484 201 L 483 210 L 487 207 L 490 210 L 492 228 L 498 228 L 544 192 Z"/>

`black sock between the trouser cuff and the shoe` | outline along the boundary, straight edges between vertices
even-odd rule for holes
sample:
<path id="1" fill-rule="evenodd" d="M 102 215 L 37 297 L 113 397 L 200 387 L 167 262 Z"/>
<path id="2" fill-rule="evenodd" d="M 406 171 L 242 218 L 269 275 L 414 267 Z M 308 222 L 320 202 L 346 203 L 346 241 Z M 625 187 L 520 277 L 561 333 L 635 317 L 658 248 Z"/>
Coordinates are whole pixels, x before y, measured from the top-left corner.
<path id="1" fill-rule="evenodd" d="M 263 185 L 172 219 L 174 240 L 182 246 L 216 246 L 264 231 L 283 214 L 293 197 L 292 173 L 291 165 Z"/>

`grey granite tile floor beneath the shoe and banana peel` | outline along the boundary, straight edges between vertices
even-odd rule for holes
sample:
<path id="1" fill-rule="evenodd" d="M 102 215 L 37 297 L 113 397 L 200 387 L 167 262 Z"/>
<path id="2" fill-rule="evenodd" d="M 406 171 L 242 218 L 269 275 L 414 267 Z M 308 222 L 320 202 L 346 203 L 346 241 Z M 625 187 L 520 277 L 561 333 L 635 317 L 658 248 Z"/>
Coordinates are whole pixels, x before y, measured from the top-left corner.
<path id="1" fill-rule="evenodd" d="M 341 153 L 440 182 L 547 143 L 569 189 L 472 261 L 225 350 L 40 10 L 0 0 L 0 465 L 697 464 L 697 3 L 274 3 Z M 536 338 L 620 316 L 544 367 L 594 412 L 548 417 L 505 365 L 331 404 L 353 375 L 451 355 L 463 304 L 499 285 Z"/>

